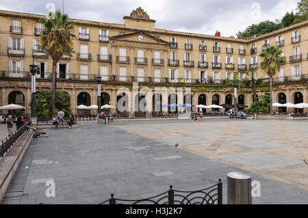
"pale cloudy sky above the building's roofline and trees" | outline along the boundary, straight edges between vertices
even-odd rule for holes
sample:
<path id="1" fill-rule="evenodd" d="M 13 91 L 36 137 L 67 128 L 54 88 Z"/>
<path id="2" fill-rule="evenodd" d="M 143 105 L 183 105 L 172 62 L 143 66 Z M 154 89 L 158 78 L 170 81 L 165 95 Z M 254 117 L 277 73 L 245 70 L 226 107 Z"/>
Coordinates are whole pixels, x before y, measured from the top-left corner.
<path id="1" fill-rule="evenodd" d="M 300 0 L 64 0 L 70 18 L 123 23 L 133 9 L 142 7 L 156 28 L 235 36 L 248 25 L 281 19 Z M 48 3 L 62 10 L 62 0 L 1 0 L 1 10 L 46 14 Z"/>

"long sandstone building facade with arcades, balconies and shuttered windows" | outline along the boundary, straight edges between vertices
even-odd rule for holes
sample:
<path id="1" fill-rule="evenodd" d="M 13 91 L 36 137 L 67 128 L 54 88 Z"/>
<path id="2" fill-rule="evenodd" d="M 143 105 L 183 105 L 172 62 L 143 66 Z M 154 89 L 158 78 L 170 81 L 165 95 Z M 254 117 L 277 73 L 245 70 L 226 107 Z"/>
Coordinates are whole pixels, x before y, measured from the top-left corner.
<path id="1" fill-rule="evenodd" d="M 43 17 L 0 10 L 0 105 L 25 105 L 26 115 L 31 113 L 30 64 L 40 68 L 36 91 L 51 89 L 52 59 L 39 46 Z M 64 55 L 57 63 L 57 90 L 70 95 L 73 111 L 77 105 L 97 105 L 97 77 L 101 77 L 103 104 L 115 106 L 126 93 L 131 108 L 133 99 L 139 102 L 144 96 L 153 99 L 153 103 L 161 96 L 159 105 L 185 103 L 188 99 L 193 105 L 232 105 L 233 87 L 228 87 L 226 81 L 235 77 L 234 72 L 249 71 L 252 67 L 256 68 L 255 72 L 240 73 L 238 77 L 259 79 L 257 95 L 266 94 L 268 75 L 261 70 L 258 56 L 272 45 L 282 49 L 287 59 L 274 76 L 273 101 L 308 102 L 308 21 L 256 38 L 237 39 L 220 37 L 218 33 L 209 36 L 157 29 L 155 20 L 141 8 L 123 19 L 124 24 L 72 19 L 77 36 L 73 39 L 75 53 L 71 57 Z M 123 91 L 133 90 L 134 82 L 152 92 L 143 96 Z M 155 87 L 167 91 L 155 95 Z M 183 92 L 170 91 L 179 87 Z M 151 96 L 147 96 L 149 93 Z M 253 103 L 251 83 L 246 83 L 237 97 L 238 103 L 250 106 Z"/>

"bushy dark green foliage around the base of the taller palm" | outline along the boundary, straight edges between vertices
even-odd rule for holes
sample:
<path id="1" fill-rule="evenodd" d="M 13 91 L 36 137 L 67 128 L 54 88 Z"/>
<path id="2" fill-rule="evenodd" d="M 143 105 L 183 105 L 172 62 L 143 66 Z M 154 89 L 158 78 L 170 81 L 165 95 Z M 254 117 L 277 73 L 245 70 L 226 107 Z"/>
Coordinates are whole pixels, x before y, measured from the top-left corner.
<path id="1" fill-rule="evenodd" d="M 36 114 L 38 118 L 50 119 L 51 114 L 51 91 L 41 90 L 36 93 Z M 66 115 L 70 111 L 70 96 L 66 92 L 55 91 L 55 113 L 63 111 Z"/>

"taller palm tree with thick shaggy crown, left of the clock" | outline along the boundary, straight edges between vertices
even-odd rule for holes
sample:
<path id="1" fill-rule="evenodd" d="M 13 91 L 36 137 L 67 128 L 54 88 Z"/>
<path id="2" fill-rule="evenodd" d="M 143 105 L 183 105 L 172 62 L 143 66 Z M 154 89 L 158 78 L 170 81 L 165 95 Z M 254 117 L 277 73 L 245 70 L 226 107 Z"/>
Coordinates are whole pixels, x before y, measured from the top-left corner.
<path id="1" fill-rule="evenodd" d="M 62 55 L 73 53 L 72 38 L 74 23 L 68 21 L 68 15 L 57 10 L 54 14 L 49 12 L 49 18 L 42 18 L 40 22 L 44 25 L 44 30 L 40 35 L 41 48 L 47 51 L 53 59 L 53 69 L 51 73 L 51 115 L 55 115 L 55 78 L 57 74 L 57 61 Z"/>

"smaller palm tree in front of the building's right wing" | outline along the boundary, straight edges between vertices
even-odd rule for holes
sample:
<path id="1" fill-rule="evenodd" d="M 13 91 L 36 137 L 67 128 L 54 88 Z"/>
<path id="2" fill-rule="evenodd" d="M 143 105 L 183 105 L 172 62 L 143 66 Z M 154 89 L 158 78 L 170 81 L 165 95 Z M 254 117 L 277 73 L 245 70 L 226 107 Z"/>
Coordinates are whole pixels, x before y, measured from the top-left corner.
<path id="1" fill-rule="evenodd" d="M 280 49 L 270 46 L 260 54 L 262 57 L 261 69 L 270 77 L 270 114 L 272 114 L 272 77 L 280 70 L 281 64 L 285 64 L 285 57 L 282 57 L 281 53 L 283 51 Z"/>

